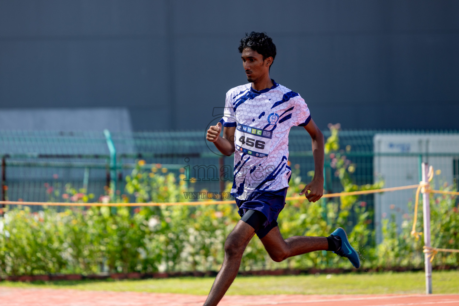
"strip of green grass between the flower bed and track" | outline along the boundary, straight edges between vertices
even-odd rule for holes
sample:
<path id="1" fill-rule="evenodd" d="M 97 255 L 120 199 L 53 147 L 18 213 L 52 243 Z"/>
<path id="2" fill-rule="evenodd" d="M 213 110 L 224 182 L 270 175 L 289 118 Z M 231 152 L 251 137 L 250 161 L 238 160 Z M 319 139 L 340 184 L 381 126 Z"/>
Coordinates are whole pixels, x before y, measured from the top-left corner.
<path id="1" fill-rule="evenodd" d="M 0 286 L 108 291 L 141 291 L 207 295 L 214 278 L 166 278 L 146 280 L 58 281 L 16 283 Z M 459 271 L 432 275 L 433 293 L 459 293 Z M 266 294 L 413 294 L 425 293 L 424 272 L 321 274 L 297 276 L 237 277 L 228 295 Z"/>

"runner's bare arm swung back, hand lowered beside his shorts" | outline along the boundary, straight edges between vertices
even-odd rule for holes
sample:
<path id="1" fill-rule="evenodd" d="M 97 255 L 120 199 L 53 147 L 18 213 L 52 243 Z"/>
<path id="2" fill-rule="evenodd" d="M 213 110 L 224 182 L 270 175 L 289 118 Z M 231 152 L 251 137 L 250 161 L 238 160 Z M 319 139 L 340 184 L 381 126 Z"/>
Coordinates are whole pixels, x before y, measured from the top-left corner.
<path id="1" fill-rule="evenodd" d="M 315 202 L 324 195 L 324 135 L 317 127 L 315 122 L 310 119 L 308 124 L 304 126 L 312 139 L 313 156 L 314 156 L 314 177 L 311 183 L 307 184 L 300 192 L 300 195 L 306 194 L 309 202 Z M 310 193 L 307 193 L 310 190 Z"/>

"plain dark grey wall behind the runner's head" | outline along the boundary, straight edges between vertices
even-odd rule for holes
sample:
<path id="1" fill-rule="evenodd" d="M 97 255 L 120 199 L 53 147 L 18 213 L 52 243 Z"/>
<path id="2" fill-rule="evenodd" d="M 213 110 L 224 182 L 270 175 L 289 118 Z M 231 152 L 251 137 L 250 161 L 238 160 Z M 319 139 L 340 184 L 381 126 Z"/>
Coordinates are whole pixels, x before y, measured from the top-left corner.
<path id="1" fill-rule="evenodd" d="M 271 77 L 321 128 L 459 127 L 457 0 L 0 0 L 0 111 L 127 107 L 135 130 L 205 128 L 246 83 L 250 31 L 273 37 Z"/>

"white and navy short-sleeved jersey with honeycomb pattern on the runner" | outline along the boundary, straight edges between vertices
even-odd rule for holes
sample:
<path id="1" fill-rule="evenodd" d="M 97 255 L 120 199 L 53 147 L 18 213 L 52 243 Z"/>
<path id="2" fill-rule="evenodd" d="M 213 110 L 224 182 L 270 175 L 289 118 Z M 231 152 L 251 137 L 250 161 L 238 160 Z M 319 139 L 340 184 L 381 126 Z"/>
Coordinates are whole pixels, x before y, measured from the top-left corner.
<path id="1" fill-rule="evenodd" d="M 236 127 L 234 182 L 231 194 L 244 200 L 254 190 L 288 187 L 291 169 L 288 134 L 292 126 L 311 120 L 309 109 L 296 92 L 274 82 L 257 91 L 251 83 L 226 93 L 225 127 Z"/>

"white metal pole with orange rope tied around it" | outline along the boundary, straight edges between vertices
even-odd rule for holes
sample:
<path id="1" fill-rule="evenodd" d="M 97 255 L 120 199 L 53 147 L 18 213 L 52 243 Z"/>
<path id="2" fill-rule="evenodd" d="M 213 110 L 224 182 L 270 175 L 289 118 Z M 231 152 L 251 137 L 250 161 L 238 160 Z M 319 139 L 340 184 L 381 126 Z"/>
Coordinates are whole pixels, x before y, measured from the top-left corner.
<path id="1" fill-rule="evenodd" d="M 422 182 L 427 184 L 429 182 L 429 164 L 422 163 Z M 422 193 L 422 216 L 424 220 L 424 245 L 430 247 L 430 201 L 429 193 Z M 425 294 L 432 294 L 432 263 L 428 253 L 424 253 L 424 266 L 425 266 Z"/>

